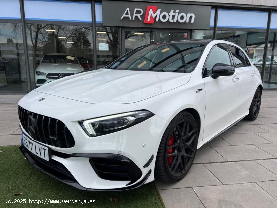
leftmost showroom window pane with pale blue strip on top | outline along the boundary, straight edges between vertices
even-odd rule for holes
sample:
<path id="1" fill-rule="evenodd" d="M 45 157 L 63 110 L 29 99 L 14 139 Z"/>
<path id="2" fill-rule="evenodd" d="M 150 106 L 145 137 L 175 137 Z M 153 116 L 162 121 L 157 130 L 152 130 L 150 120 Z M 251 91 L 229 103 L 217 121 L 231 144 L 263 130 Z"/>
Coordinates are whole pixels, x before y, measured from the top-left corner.
<path id="1" fill-rule="evenodd" d="M 27 91 L 19 0 L 0 3 L 0 92 Z"/>

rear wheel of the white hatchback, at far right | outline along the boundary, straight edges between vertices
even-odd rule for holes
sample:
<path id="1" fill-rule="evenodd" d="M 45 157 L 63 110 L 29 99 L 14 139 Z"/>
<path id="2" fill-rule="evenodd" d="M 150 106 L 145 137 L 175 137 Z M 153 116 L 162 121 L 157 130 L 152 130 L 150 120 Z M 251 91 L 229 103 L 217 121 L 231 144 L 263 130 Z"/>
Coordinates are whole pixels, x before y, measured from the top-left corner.
<path id="1" fill-rule="evenodd" d="M 261 94 L 262 91 L 258 87 L 249 108 L 249 115 L 245 117 L 246 120 L 256 120 L 258 117 L 261 107 Z"/>

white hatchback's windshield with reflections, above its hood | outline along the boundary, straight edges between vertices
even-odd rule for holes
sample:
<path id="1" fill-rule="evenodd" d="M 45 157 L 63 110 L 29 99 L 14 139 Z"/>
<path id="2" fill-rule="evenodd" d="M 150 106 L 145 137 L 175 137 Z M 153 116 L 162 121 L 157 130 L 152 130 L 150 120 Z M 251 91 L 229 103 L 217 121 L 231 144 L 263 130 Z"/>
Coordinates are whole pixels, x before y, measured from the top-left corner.
<path id="1" fill-rule="evenodd" d="M 203 44 L 189 42 L 147 45 L 130 51 L 106 68 L 190 73 L 203 47 Z"/>

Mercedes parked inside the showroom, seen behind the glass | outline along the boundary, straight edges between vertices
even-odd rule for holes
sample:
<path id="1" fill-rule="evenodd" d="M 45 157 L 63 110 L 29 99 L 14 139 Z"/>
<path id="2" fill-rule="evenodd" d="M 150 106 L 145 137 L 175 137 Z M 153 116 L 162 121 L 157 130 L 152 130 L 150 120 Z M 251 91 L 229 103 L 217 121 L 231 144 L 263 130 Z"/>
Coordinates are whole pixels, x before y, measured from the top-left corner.
<path id="1" fill-rule="evenodd" d="M 46 54 L 35 70 L 36 86 L 39 87 L 54 80 L 81 72 L 84 72 L 84 69 L 73 54 Z"/>

